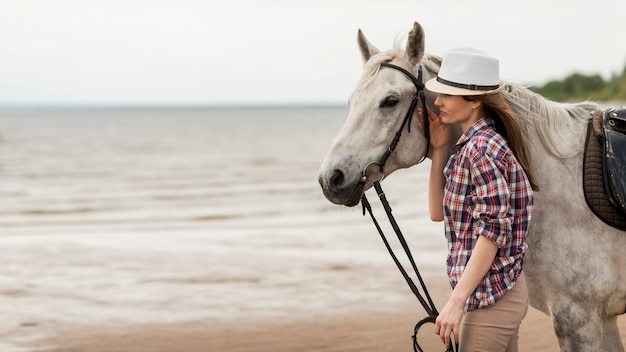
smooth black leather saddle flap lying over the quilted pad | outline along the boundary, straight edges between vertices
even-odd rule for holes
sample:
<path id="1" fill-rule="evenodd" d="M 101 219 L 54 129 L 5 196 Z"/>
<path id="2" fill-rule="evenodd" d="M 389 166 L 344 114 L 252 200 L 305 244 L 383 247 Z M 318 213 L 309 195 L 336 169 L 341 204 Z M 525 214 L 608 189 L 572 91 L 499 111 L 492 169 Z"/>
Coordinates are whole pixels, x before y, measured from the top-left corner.
<path id="1" fill-rule="evenodd" d="M 626 216 L 626 109 L 607 110 L 603 127 L 605 186 Z"/>

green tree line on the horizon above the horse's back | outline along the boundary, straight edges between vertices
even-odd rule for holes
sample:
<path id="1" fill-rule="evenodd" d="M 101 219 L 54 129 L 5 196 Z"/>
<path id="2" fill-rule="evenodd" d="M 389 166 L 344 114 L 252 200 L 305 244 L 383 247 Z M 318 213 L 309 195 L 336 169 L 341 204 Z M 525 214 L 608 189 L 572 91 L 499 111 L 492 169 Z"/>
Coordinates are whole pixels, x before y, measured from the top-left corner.
<path id="1" fill-rule="evenodd" d="M 599 74 L 574 73 L 563 80 L 550 81 L 543 86 L 530 86 L 530 90 L 560 102 L 593 100 L 626 101 L 626 66 L 622 73 L 605 80 Z"/>

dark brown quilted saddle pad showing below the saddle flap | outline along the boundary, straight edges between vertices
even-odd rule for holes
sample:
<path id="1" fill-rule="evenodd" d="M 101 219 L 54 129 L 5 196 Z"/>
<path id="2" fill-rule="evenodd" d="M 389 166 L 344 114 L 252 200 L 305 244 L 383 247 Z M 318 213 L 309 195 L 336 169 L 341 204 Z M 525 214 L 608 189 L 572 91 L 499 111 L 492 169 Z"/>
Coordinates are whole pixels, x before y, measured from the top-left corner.
<path id="1" fill-rule="evenodd" d="M 626 231 L 626 216 L 611 202 L 604 186 L 602 163 L 602 144 L 593 132 L 592 122 L 589 122 L 583 159 L 585 201 L 589 209 L 606 224 Z"/>

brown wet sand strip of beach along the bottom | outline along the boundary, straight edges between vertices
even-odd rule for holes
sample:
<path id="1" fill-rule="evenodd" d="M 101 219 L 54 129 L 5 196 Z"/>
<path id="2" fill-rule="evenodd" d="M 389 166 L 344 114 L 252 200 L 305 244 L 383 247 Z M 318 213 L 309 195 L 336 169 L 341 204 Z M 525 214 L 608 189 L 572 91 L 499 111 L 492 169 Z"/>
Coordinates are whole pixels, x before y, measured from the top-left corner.
<path id="1" fill-rule="evenodd" d="M 60 331 L 51 340 L 65 352 L 166 351 L 412 351 L 416 314 L 402 310 L 354 312 L 335 317 L 293 321 L 241 321 L 211 328 L 206 322 L 82 327 Z M 626 319 L 619 318 L 622 340 Z M 419 342 L 426 351 L 442 351 L 441 342 L 425 325 Z M 531 308 L 520 331 L 521 352 L 558 351 L 550 320 Z"/>

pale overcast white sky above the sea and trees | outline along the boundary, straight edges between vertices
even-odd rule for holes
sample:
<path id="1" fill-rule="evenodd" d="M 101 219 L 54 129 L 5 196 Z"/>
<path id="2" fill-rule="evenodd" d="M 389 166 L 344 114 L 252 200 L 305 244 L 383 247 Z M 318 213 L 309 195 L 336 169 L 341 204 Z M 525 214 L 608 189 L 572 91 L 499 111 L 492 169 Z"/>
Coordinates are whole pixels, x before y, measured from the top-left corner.
<path id="1" fill-rule="evenodd" d="M 471 46 L 543 84 L 626 66 L 624 0 L 0 0 L 2 105 L 347 104 L 381 50 Z"/>

